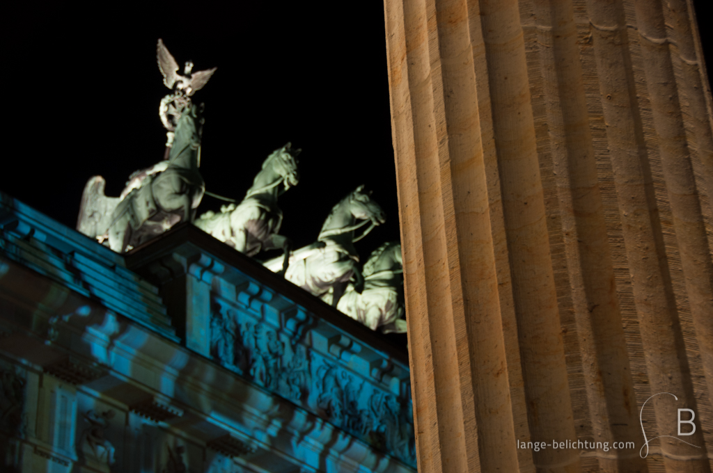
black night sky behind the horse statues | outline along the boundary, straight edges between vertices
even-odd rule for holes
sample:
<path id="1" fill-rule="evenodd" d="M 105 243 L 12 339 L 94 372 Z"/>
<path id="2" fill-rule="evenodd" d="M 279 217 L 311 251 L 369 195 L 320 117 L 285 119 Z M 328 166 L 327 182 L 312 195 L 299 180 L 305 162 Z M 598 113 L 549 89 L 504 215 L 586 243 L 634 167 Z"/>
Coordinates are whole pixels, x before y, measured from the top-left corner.
<path id="1" fill-rule="evenodd" d="M 73 228 L 89 177 L 116 196 L 131 172 L 161 160 L 163 38 L 181 68 L 217 66 L 193 98 L 205 103 L 207 190 L 242 199 L 265 157 L 291 141 L 301 180 L 279 200 L 280 233 L 311 243 L 332 206 L 366 184 L 387 222 L 356 243 L 362 261 L 399 239 L 383 3 L 231 3 L 4 6 L 0 190 Z M 701 34 L 712 64 L 711 32 Z M 198 213 L 222 203 L 204 197 Z"/>

